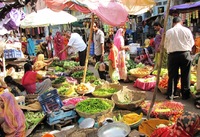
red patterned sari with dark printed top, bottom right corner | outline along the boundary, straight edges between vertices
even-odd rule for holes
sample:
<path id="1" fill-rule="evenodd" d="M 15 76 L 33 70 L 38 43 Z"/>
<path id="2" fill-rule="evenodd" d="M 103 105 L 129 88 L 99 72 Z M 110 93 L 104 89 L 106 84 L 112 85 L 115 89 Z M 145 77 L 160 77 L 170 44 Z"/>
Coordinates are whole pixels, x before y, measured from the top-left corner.
<path id="1" fill-rule="evenodd" d="M 185 112 L 171 127 L 156 129 L 151 137 L 193 137 L 200 132 L 200 116 L 196 113 Z"/>

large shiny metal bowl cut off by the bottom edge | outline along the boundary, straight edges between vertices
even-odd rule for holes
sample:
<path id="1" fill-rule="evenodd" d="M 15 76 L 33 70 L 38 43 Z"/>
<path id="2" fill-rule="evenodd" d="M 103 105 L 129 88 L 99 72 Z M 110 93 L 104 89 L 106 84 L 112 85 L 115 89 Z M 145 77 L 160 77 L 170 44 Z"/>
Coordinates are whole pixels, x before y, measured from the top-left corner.
<path id="1" fill-rule="evenodd" d="M 131 128 L 121 122 L 108 123 L 98 130 L 98 137 L 126 137 Z"/>

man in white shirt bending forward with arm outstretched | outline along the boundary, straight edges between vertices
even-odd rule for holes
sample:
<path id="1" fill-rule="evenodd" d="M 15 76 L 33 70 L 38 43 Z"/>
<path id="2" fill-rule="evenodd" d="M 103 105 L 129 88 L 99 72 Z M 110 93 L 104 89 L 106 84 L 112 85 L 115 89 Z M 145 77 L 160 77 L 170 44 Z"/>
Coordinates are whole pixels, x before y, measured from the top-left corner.
<path id="1" fill-rule="evenodd" d="M 79 55 L 80 66 L 85 66 L 85 59 L 87 53 L 87 45 L 83 41 L 82 37 L 78 33 L 66 32 L 66 38 L 69 40 L 67 46 L 60 51 L 62 53 L 68 47 L 73 47 Z"/>

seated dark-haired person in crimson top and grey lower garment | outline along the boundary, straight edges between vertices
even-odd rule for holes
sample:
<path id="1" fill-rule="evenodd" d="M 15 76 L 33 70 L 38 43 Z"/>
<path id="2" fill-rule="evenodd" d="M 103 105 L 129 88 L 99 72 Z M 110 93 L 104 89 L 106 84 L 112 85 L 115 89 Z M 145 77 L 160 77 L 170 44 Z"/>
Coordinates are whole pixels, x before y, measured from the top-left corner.
<path id="1" fill-rule="evenodd" d="M 24 65 L 22 85 L 28 94 L 42 94 L 52 86 L 52 83 L 50 79 L 44 79 L 40 74 L 34 72 L 30 63 L 26 63 Z"/>

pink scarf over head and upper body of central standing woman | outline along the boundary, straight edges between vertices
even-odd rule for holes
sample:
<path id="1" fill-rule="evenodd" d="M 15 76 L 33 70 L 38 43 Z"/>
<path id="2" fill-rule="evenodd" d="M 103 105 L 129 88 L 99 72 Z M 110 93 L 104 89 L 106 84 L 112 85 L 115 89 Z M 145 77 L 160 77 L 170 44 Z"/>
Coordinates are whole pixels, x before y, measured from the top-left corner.
<path id="1" fill-rule="evenodd" d="M 120 28 L 117 30 L 117 33 L 114 37 L 114 45 L 117 47 L 118 51 L 121 50 L 121 46 L 124 45 L 123 29 Z"/>

